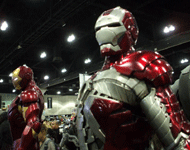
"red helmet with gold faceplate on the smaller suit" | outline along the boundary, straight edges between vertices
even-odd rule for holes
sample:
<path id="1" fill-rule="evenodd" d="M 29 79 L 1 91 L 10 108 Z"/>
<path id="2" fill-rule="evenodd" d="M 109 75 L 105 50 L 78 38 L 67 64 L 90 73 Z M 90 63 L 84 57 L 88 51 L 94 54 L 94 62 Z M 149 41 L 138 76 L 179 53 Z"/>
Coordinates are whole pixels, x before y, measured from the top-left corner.
<path id="1" fill-rule="evenodd" d="M 12 83 L 16 90 L 23 90 L 33 79 L 33 71 L 27 66 L 20 66 L 12 73 Z"/>

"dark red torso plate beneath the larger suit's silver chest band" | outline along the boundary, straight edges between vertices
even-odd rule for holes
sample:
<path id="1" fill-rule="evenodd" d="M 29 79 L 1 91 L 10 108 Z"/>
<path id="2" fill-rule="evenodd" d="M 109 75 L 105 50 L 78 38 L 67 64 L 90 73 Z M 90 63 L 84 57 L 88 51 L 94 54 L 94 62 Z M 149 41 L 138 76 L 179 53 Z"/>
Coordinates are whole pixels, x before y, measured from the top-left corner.
<path id="1" fill-rule="evenodd" d="M 106 135 L 105 150 L 143 150 L 148 147 L 151 127 L 144 119 L 136 117 L 133 109 L 127 109 L 127 106 L 117 101 L 94 100 L 91 111 Z"/>

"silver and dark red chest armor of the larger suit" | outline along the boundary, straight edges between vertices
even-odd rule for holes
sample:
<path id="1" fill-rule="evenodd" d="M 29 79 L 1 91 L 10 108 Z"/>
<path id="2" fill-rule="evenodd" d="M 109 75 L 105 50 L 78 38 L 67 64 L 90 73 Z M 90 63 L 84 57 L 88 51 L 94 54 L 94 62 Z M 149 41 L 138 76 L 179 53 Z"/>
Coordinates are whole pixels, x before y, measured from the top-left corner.
<path id="1" fill-rule="evenodd" d="M 99 72 L 81 89 L 79 100 L 83 104 L 81 115 L 85 126 L 92 132 L 94 141 L 99 139 L 104 143 L 104 149 L 148 145 L 151 130 L 138 105 L 140 97 L 146 94 L 142 87 L 146 89 L 144 82 L 123 76 L 112 68 Z"/>

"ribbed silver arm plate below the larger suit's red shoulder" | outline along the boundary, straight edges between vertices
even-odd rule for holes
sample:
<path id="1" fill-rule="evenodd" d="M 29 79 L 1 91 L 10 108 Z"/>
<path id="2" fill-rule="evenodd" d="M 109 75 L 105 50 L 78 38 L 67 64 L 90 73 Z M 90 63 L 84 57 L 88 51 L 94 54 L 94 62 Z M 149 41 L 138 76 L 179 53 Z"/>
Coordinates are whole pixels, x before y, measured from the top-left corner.
<path id="1" fill-rule="evenodd" d="M 166 148 L 169 148 L 175 141 L 169 126 L 170 116 L 155 93 L 156 90 L 152 88 L 149 95 L 140 102 L 140 105 L 160 141 Z"/>

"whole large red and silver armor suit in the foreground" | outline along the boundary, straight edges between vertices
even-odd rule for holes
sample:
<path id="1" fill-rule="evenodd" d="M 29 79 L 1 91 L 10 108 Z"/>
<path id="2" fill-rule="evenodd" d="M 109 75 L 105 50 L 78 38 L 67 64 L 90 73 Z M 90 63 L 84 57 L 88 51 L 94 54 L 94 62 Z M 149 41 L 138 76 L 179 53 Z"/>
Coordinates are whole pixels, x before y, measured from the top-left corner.
<path id="1" fill-rule="evenodd" d="M 173 69 L 157 52 L 134 51 L 131 12 L 105 11 L 95 30 L 105 63 L 79 90 L 80 150 L 155 149 L 155 135 L 164 149 L 190 149 L 190 125 L 169 87 Z"/>

